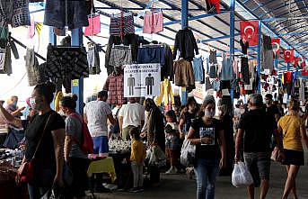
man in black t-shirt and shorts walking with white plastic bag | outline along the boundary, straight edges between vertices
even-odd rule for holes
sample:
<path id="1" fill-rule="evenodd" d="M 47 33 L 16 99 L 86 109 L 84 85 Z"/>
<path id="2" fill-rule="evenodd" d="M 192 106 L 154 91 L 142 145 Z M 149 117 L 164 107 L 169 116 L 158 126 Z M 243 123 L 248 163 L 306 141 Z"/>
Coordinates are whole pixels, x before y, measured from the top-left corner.
<path id="1" fill-rule="evenodd" d="M 282 149 L 282 140 L 277 136 L 277 124 L 274 118 L 262 108 L 262 96 L 251 95 L 251 110 L 244 113 L 239 123 L 239 130 L 235 141 L 235 161 L 240 159 L 240 146 L 244 144 L 244 161 L 252 176 L 260 176 L 260 198 L 268 193 L 268 179 L 270 169 L 271 136 L 277 140 L 277 146 Z M 257 167 L 258 171 L 254 169 Z M 248 187 L 249 198 L 254 198 L 254 185 Z"/>

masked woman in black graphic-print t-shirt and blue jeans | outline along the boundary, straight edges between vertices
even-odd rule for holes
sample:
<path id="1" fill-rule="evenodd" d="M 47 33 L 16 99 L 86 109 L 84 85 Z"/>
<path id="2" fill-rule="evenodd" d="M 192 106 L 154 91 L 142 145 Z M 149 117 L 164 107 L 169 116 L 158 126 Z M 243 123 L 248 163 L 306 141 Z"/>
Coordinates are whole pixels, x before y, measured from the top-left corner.
<path id="1" fill-rule="evenodd" d="M 222 123 L 214 118 L 215 99 L 207 95 L 198 119 L 192 122 L 188 140 L 196 145 L 197 199 L 214 199 L 215 182 L 220 167 L 225 166 L 225 142 Z"/>

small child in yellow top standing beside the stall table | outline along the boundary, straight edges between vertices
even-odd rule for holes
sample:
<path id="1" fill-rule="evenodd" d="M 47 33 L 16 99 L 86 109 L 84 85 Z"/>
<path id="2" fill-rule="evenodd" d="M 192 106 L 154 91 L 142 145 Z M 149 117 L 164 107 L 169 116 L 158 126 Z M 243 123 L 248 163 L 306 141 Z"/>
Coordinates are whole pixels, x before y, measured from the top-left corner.
<path id="1" fill-rule="evenodd" d="M 145 145 L 141 141 L 140 131 L 138 128 L 133 128 L 129 131 L 131 143 L 130 161 L 134 174 L 134 187 L 130 189 L 131 192 L 143 192 L 144 184 L 144 160 L 145 160 Z"/>

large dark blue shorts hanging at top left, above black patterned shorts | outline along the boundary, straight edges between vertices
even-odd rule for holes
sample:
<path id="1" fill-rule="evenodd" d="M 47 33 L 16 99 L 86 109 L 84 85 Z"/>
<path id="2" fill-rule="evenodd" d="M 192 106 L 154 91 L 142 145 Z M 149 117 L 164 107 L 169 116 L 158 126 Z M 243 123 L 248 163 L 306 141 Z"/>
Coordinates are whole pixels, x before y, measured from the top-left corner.
<path id="1" fill-rule="evenodd" d="M 67 14 L 67 24 L 66 24 Z M 44 25 L 56 28 L 64 28 L 66 25 L 70 30 L 82 28 L 89 25 L 85 1 L 53 0 L 46 2 Z"/>

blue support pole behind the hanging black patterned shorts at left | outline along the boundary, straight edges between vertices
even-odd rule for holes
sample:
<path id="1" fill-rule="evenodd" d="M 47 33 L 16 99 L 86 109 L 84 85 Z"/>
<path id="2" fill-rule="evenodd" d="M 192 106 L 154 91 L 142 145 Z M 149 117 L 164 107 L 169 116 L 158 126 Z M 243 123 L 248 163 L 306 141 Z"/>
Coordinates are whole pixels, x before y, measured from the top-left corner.
<path id="1" fill-rule="evenodd" d="M 72 46 L 83 46 L 83 30 L 72 30 Z M 84 113 L 84 78 L 72 80 L 72 94 L 78 96 L 76 112 Z"/>

